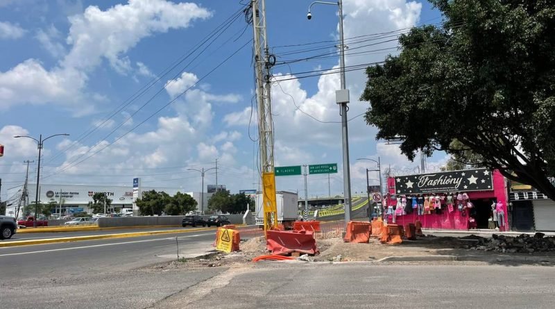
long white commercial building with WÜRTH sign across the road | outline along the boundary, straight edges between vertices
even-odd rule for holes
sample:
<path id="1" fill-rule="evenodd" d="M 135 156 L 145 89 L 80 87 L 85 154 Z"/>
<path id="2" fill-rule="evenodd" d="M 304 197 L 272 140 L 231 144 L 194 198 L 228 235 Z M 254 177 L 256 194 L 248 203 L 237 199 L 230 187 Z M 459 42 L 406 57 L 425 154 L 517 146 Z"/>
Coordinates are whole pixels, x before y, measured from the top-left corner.
<path id="1" fill-rule="evenodd" d="M 28 203 L 35 202 L 35 188 L 36 185 L 28 185 Z M 21 187 L 15 188 L 15 192 L 21 190 Z M 177 192 L 189 194 L 198 203 L 198 211 L 203 211 L 201 205 L 207 209 L 208 199 L 212 194 L 201 194 L 200 192 L 183 192 L 184 190 L 171 187 L 141 187 L 142 192 L 156 190 L 157 192 L 164 191 L 167 194 L 174 195 Z M 101 192 L 106 194 L 108 199 L 112 199 L 112 208 L 114 212 L 120 212 L 121 208 L 133 208 L 133 187 L 130 186 L 101 186 L 101 185 L 56 185 L 56 184 L 41 184 L 39 187 L 39 202 L 50 203 L 55 202 L 61 204 L 62 214 L 71 214 L 76 212 L 92 213 L 89 209 L 89 202 L 92 202 L 92 196 L 95 193 Z M 12 193 L 13 194 L 13 193 Z M 200 197 L 204 196 L 204 203 L 200 203 Z M 14 203 L 15 204 L 15 203 Z M 23 205 L 21 206 L 23 208 Z M 108 210 L 110 211 L 110 210 Z M 22 209 L 19 210 L 21 214 Z M 6 213 L 12 213 L 14 216 L 17 212 L 17 205 L 11 205 L 6 210 Z M 60 213 L 60 210 L 56 210 Z"/>

